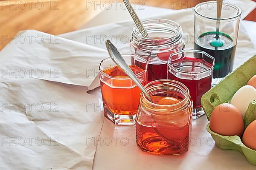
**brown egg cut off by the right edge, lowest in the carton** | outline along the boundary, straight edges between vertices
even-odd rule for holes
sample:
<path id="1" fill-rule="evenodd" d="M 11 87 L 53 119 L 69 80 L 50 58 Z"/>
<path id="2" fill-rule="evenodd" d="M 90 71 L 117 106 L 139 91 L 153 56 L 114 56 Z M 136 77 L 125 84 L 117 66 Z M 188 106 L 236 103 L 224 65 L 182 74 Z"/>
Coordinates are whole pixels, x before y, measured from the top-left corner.
<path id="1" fill-rule="evenodd" d="M 245 146 L 256 150 L 256 120 L 250 123 L 244 131 L 243 143 Z"/>

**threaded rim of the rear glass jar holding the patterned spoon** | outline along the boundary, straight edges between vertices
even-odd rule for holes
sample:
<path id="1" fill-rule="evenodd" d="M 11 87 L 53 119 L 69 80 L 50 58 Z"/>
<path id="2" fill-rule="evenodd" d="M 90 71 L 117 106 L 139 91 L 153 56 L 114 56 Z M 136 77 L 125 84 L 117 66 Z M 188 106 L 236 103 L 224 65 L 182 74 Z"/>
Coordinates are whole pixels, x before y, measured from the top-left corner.
<path id="1" fill-rule="evenodd" d="M 145 38 L 139 34 L 137 34 L 139 32 L 139 29 L 137 28 L 136 25 L 133 26 L 132 28 L 132 34 L 134 37 L 138 38 L 138 39 L 142 39 L 142 40 L 153 40 L 153 41 L 163 41 L 163 40 L 170 40 L 170 39 L 176 39 L 177 37 L 179 36 L 182 36 L 182 28 L 180 26 L 180 24 L 176 23 L 175 21 L 172 21 L 172 20 L 168 20 L 168 19 L 161 19 L 161 18 L 155 18 L 155 19 L 148 19 L 148 20 L 143 20 L 142 21 L 142 24 L 144 26 L 144 24 L 157 24 L 160 23 L 161 21 L 164 21 L 165 23 L 169 23 L 169 24 L 172 24 L 174 26 L 176 26 L 178 28 L 178 31 L 177 33 L 172 36 L 172 37 L 165 37 L 165 38 L 157 38 L 157 39 L 153 39 L 153 38 Z M 149 29 L 150 30 L 150 29 Z"/>

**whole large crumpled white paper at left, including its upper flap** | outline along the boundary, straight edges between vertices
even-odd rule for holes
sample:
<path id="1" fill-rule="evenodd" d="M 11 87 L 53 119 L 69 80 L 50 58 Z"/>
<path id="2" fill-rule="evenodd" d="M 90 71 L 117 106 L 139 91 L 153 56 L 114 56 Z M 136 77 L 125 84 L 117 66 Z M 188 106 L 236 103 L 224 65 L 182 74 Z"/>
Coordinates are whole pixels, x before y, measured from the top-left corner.
<path id="1" fill-rule="evenodd" d="M 106 54 L 34 30 L 0 52 L 1 170 L 92 169 L 88 141 L 99 137 L 103 114 L 87 91 Z"/>

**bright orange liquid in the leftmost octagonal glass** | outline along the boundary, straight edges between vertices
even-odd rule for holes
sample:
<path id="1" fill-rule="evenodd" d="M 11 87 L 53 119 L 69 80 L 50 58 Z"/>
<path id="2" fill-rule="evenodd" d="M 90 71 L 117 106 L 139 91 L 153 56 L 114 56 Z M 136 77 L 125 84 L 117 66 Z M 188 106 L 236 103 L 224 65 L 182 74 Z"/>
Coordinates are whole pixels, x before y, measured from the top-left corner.
<path id="1" fill-rule="evenodd" d="M 131 65 L 130 68 L 135 74 L 144 71 L 136 65 Z M 128 78 L 128 76 L 118 66 L 105 70 L 104 72 L 111 77 L 117 78 L 101 82 L 104 108 L 120 115 L 136 114 L 140 104 L 140 88 L 131 79 L 122 79 Z M 143 85 L 145 85 L 145 81 L 142 82 Z"/>

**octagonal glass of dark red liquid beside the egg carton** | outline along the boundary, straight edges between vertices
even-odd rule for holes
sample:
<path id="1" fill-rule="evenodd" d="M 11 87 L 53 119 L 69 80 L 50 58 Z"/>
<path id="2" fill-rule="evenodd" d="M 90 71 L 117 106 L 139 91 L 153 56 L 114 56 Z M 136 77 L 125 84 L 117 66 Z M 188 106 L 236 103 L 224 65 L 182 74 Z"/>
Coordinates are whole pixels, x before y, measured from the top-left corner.
<path id="1" fill-rule="evenodd" d="M 192 119 L 204 114 L 201 97 L 212 86 L 214 58 L 204 51 L 182 50 L 170 55 L 168 79 L 183 83 L 193 100 Z"/>

